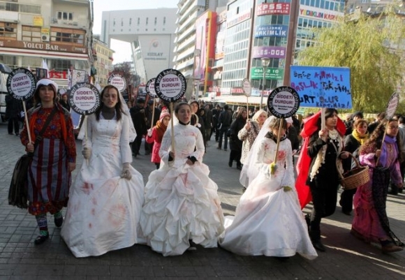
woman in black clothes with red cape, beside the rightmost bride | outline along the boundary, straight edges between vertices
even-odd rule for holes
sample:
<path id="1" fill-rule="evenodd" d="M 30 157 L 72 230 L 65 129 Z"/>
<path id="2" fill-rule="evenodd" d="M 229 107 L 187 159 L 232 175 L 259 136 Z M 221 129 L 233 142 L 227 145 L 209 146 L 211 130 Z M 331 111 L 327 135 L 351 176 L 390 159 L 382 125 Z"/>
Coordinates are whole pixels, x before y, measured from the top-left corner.
<path id="1" fill-rule="evenodd" d="M 346 126 L 337 117 L 337 110 L 327 108 L 324 129 L 321 129 L 321 112 L 318 112 L 305 120 L 301 132 L 305 140 L 297 162 L 298 176 L 295 186 L 301 207 L 311 200 L 314 205 L 311 214 L 305 219 L 312 244 L 319 251 L 325 251 L 321 242 L 321 219 L 332 215 L 337 204 L 338 172 L 343 171 L 340 161 L 340 171 L 337 169 L 337 158 L 348 158 L 348 153 L 342 152 L 345 131 Z"/>

